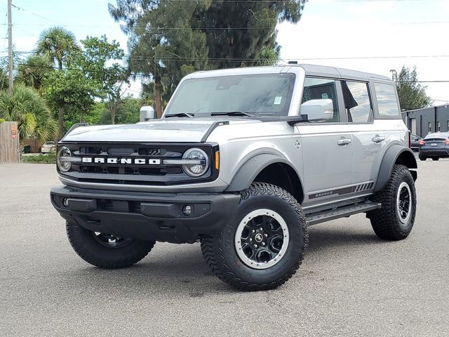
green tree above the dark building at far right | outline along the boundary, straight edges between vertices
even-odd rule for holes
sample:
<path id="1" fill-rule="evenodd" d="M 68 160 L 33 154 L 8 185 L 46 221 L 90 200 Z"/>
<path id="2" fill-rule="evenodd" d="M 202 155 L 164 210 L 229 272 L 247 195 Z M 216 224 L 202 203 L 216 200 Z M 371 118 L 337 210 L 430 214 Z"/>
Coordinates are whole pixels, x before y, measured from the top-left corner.
<path id="1" fill-rule="evenodd" d="M 429 107 L 433 101 L 426 93 L 427 86 L 417 82 L 416 67 L 410 68 L 403 66 L 398 77 L 398 95 L 401 109 L 415 110 L 423 107 Z"/>

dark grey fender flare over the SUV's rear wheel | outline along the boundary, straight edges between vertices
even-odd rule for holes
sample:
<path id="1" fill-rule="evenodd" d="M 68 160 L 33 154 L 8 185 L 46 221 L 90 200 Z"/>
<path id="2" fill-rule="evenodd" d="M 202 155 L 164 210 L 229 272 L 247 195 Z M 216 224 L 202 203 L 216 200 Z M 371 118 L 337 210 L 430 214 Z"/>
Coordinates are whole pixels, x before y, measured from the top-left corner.
<path id="1" fill-rule="evenodd" d="M 400 158 L 401 157 L 401 158 Z M 392 145 L 388 148 L 387 152 L 384 154 L 382 163 L 380 164 L 379 174 L 377 176 L 377 182 L 374 187 L 374 192 L 378 192 L 387 185 L 387 182 L 393 171 L 393 166 L 398 162 L 404 164 L 408 169 L 417 169 L 417 162 L 415 154 L 408 147 L 402 145 Z M 417 172 L 411 171 L 413 180 L 417 179 Z"/>

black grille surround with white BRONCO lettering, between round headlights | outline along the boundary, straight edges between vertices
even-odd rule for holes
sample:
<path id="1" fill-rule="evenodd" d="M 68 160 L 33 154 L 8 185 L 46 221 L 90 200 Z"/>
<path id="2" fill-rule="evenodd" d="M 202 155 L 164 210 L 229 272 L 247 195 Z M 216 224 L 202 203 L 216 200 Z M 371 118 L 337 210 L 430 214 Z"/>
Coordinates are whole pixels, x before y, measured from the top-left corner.
<path id="1" fill-rule="evenodd" d="M 192 183 L 206 183 L 218 178 L 215 169 L 215 152 L 218 145 L 213 143 L 125 143 L 125 142 L 60 142 L 72 152 L 72 157 L 118 159 L 118 164 L 75 162 L 67 172 L 58 173 L 65 178 L 83 183 L 107 183 L 118 185 L 166 186 Z M 182 155 L 191 148 L 206 152 L 209 168 L 203 176 L 191 177 L 179 164 L 163 164 L 164 159 L 182 159 Z M 127 159 L 131 164 L 120 164 Z M 131 159 L 131 160 L 130 160 Z M 135 159 L 156 160 L 161 164 L 134 164 Z"/>

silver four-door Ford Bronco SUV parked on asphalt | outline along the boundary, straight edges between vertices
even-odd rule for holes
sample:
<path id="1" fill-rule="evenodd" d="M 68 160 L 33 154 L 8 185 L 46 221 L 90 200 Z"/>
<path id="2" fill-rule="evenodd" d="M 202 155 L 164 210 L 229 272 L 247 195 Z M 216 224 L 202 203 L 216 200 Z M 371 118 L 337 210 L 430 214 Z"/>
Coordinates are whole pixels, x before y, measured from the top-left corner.
<path id="1" fill-rule="evenodd" d="M 51 190 L 76 253 L 133 265 L 156 241 L 201 242 L 217 277 L 274 289 L 300 266 L 307 227 L 366 213 L 405 239 L 417 163 L 394 83 L 316 65 L 196 72 L 162 119 L 77 126 Z"/>

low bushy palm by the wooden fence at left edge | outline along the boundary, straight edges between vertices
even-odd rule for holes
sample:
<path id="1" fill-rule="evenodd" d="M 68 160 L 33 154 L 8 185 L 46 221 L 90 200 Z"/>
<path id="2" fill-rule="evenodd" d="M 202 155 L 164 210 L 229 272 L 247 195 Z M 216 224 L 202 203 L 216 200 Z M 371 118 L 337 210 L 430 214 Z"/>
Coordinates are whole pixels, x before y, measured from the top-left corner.
<path id="1" fill-rule="evenodd" d="M 53 140 L 58 123 L 51 117 L 46 101 L 33 88 L 18 84 L 12 93 L 0 91 L 0 119 L 17 121 L 22 138 Z"/>

